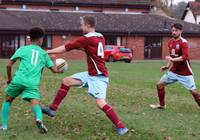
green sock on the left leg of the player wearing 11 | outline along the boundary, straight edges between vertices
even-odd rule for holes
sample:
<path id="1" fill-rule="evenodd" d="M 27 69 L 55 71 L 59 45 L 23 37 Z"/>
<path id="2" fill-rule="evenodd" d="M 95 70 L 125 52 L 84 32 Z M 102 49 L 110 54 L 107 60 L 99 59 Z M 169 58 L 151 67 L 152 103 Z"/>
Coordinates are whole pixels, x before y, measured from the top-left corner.
<path id="1" fill-rule="evenodd" d="M 1 109 L 1 123 L 3 128 L 8 128 L 8 117 L 10 112 L 11 103 L 4 102 Z"/>

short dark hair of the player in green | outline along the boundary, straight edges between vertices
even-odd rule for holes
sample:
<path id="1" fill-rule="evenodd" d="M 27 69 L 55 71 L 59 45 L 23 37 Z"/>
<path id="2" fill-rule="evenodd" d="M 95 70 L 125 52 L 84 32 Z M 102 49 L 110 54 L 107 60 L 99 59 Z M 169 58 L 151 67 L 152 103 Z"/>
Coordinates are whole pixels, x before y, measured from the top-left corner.
<path id="1" fill-rule="evenodd" d="M 43 29 L 41 29 L 39 27 L 34 27 L 34 28 L 30 29 L 28 34 L 30 36 L 31 41 L 34 41 L 34 40 L 43 38 L 45 33 L 44 33 Z"/>

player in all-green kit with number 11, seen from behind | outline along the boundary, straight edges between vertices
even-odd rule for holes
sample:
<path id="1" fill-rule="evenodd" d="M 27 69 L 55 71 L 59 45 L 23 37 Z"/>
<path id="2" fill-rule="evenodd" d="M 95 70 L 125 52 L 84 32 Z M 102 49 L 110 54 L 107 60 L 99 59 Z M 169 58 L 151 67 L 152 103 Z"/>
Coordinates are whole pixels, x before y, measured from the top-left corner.
<path id="1" fill-rule="evenodd" d="M 36 125 L 41 133 L 47 133 L 47 128 L 42 122 L 42 111 L 39 105 L 39 85 L 44 67 L 52 72 L 59 72 L 54 66 L 49 55 L 40 48 L 43 42 L 44 31 L 38 27 L 29 31 L 31 44 L 20 47 L 7 63 L 8 86 L 5 89 L 6 97 L 1 110 L 0 130 L 7 130 L 8 117 L 13 100 L 22 95 L 22 99 L 29 101 L 35 115 Z M 12 66 L 20 60 L 18 70 L 12 77 Z"/>

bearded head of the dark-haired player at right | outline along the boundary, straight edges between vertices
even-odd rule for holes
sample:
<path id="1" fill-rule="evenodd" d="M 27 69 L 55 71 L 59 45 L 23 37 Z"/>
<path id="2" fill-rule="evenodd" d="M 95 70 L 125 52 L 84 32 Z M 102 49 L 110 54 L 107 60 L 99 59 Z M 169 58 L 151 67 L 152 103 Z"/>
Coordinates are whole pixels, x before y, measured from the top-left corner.
<path id="1" fill-rule="evenodd" d="M 180 23 L 175 23 L 171 26 L 172 37 L 177 39 L 181 36 L 183 32 L 183 25 Z"/>

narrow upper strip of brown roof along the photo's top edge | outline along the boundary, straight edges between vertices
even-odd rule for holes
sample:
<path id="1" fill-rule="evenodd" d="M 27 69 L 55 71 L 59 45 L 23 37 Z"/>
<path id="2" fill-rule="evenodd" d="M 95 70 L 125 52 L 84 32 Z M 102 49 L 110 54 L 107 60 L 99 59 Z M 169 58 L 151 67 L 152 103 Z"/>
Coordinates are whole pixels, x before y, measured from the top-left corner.
<path id="1" fill-rule="evenodd" d="M 152 6 L 151 0 L 1 0 L 2 4 L 46 4 L 75 6 L 141 7 Z"/>

